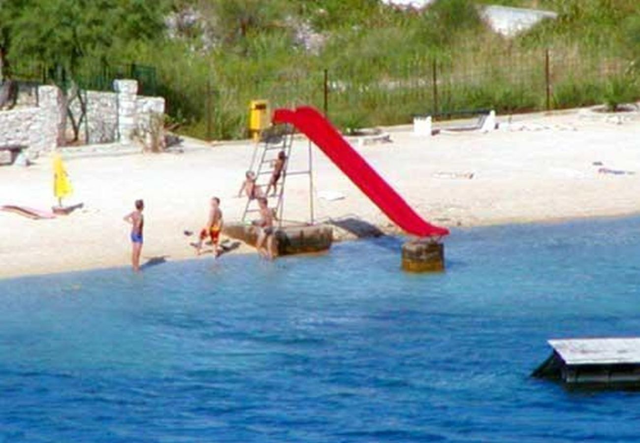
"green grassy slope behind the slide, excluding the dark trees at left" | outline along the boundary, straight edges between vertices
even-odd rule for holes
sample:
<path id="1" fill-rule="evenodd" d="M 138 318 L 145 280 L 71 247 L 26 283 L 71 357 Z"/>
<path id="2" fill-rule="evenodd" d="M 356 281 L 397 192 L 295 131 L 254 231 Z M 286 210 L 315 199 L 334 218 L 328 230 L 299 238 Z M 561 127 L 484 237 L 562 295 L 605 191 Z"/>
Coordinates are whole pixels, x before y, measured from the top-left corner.
<path id="1" fill-rule="evenodd" d="M 272 108 L 322 109 L 325 68 L 329 115 L 344 130 L 408 123 L 436 110 L 543 110 L 545 49 L 553 108 L 640 97 L 632 65 L 640 56 L 640 2 L 477 3 L 538 6 L 559 18 L 506 40 L 486 28 L 468 0 L 440 0 L 425 13 L 401 13 L 372 0 L 292 0 L 278 2 L 271 22 L 256 20 L 259 26 L 213 51 L 191 52 L 188 42 L 173 42 L 137 54 L 158 68 L 181 130 L 202 138 L 245 137 L 252 99 L 268 99 Z M 287 20 L 308 20 L 323 33 L 324 49 L 315 54 L 296 45 Z"/>

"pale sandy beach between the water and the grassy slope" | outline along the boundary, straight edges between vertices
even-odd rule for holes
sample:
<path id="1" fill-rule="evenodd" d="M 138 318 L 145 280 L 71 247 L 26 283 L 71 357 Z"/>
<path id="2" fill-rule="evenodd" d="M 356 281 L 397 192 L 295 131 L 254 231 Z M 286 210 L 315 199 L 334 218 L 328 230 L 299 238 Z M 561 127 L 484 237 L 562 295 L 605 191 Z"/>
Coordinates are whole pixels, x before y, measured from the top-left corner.
<path id="1" fill-rule="evenodd" d="M 614 117 L 583 109 L 498 120 L 500 129 L 486 134 L 426 138 L 405 126 L 384 128 L 392 143 L 354 144 L 424 218 L 447 227 L 640 212 L 640 114 Z M 0 278 L 129 266 L 129 226 L 122 218 L 136 198 L 146 204 L 143 262 L 196 258 L 189 246 L 194 239 L 183 232 L 202 227 L 213 195 L 221 199 L 225 220 L 239 220 L 245 200 L 236 195 L 253 143 L 186 140 L 183 150 L 65 149 L 75 188 L 65 203 L 84 207 L 54 220 L 0 211 Z M 290 170 L 305 165 L 307 141 L 297 140 L 293 152 Z M 0 205 L 51 209 L 51 174 L 49 156 L 28 168 L 1 167 Z M 317 220 L 355 216 L 394 232 L 388 218 L 319 149 L 314 149 L 314 181 Z M 321 198 L 326 193 L 344 198 Z M 308 220 L 307 177 L 289 177 L 285 198 L 285 218 Z M 241 246 L 234 253 L 253 252 Z"/>

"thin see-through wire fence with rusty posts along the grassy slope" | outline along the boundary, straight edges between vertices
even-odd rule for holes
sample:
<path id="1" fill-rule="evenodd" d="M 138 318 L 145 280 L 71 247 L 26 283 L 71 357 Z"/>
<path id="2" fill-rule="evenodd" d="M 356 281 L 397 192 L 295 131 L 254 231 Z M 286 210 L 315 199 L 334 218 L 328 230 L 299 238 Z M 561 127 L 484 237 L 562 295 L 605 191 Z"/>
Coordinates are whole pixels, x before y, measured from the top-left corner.
<path id="1" fill-rule="evenodd" d="M 212 71 L 207 85 L 174 79 L 166 91 L 168 112 L 183 118 L 185 131 L 195 136 L 237 138 L 246 135 L 252 99 L 269 100 L 272 108 L 315 106 L 341 129 L 354 129 L 473 109 L 518 113 L 586 106 L 609 100 L 616 82 L 637 84 L 630 63 L 606 49 L 584 54 L 572 47 L 489 48 L 466 54 L 260 75 Z M 626 98 L 638 99 L 640 91 L 628 88 Z"/>

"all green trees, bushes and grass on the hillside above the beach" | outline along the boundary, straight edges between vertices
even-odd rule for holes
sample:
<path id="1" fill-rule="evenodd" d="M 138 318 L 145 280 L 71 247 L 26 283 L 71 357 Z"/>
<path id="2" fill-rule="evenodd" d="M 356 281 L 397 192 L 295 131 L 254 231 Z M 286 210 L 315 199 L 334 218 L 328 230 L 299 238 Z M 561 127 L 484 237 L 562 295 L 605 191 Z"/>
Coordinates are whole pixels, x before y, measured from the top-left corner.
<path id="1" fill-rule="evenodd" d="M 483 4 L 559 17 L 506 40 L 484 26 Z M 169 33 L 170 13 L 188 24 Z M 640 2 L 436 0 L 405 11 L 380 0 L 0 0 L 0 63 L 35 59 L 72 75 L 108 60 L 154 65 L 173 121 L 207 138 L 244 136 L 252 99 L 323 108 L 325 69 L 344 128 L 543 109 L 544 49 L 554 106 L 634 99 Z"/>

